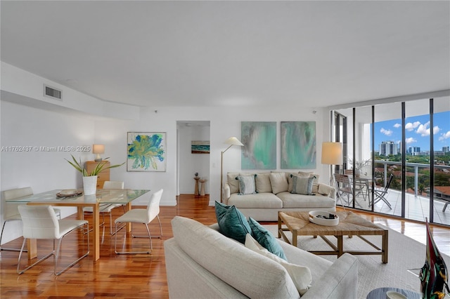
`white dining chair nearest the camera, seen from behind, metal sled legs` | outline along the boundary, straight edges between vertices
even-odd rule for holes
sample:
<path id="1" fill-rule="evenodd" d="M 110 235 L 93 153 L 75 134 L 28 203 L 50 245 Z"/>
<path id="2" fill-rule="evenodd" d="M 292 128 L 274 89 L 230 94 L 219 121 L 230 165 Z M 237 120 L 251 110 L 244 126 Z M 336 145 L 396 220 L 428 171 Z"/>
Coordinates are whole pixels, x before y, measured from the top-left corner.
<path id="1" fill-rule="evenodd" d="M 54 268 L 53 273 L 55 275 L 60 275 L 65 270 L 68 270 L 69 267 L 72 267 L 76 263 L 79 262 L 82 258 L 86 257 L 89 254 L 89 232 L 86 236 L 86 253 L 77 258 L 74 262 L 72 262 L 67 267 L 64 267 L 63 270 L 56 271 L 58 267 L 58 261 L 60 257 L 61 251 L 61 243 L 63 238 L 68 235 L 70 232 L 77 230 L 78 228 L 82 228 L 84 225 L 88 226 L 87 220 L 72 220 L 72 219 L 63 219 L 58 220 L 56 217 L 56 213 L 51 206 L 28 206 L 28 205 L 20 205 L 18 206 L 18 210 L 20 216 L 23 221 L 23 243 L 22 248 L 20 248 L 18 264 L 17 264 L 17 272 L 18 274 L 23 274 L 25 271 L 29 270 L 34 265 L 41 263 L 43 260 L 46 260 L 51 255 L 54 255 Z M 22 257 L 22 253 L 24 252 L 25 244 L 27 243 L 27 239 L 53 239 L 53 251 L 51 253 L 44 256 L 37 262 L 33 263 L 25 267 L 25 269 L 20 270 L 20 258 Z M 58 246 L 55 249 L 55 241 L 58 240 Z"/>

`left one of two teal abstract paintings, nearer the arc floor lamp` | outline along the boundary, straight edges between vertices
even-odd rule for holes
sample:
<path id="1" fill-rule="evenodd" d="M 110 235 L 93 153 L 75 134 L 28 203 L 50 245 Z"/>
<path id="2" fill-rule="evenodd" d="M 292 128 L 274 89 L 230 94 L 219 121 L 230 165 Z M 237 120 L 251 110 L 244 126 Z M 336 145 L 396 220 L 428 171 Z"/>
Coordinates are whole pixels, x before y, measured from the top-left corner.
<path id="1" fill-rule="evenodd" d="M 242 121 L 242 169 L 276 169 L 276 122 Z"/>

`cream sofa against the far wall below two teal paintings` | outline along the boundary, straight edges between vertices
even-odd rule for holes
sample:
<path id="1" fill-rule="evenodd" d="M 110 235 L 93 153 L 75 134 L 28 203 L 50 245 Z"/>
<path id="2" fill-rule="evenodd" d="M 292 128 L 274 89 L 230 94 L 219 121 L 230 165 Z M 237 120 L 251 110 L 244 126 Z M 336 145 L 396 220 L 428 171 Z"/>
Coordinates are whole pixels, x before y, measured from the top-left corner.
<path id="1" fill-rule="evenodd" d="M 293 194 L 291 175 L 314 178 L 312 194 Z M 240 194 L 238 176 L 255 178 L 255 194 Z M 277 221 L 278 211 L 336 211 L 336 190 L 319 182 L 314 173 L 227 173 L 222 190 L 223 203 L 236 206 L 247 218 Z"/>

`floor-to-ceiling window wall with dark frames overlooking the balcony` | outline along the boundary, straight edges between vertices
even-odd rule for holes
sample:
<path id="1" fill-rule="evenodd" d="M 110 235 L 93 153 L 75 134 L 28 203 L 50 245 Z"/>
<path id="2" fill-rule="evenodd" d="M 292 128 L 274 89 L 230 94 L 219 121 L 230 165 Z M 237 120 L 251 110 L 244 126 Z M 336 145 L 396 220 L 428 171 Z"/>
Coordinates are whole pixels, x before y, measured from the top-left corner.
<path id="1" fill-rule="evenodd" d="M 354 181 L 349 206 L 450 225 L 448 97 L 337 109 L 335 124 L 345 140 L 337 171 Z"/>

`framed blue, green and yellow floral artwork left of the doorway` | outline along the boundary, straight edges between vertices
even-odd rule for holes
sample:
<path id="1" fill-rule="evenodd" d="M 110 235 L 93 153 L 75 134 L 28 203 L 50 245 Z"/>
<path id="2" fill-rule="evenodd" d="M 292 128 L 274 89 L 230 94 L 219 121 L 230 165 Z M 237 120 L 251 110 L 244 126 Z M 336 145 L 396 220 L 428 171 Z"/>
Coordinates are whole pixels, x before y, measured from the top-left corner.
<path id="1" fill-rule="evenodd" d="M 166 135 L 128 132 L 127 171 L 166 171 Z"/>

